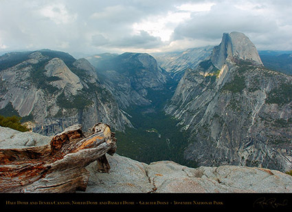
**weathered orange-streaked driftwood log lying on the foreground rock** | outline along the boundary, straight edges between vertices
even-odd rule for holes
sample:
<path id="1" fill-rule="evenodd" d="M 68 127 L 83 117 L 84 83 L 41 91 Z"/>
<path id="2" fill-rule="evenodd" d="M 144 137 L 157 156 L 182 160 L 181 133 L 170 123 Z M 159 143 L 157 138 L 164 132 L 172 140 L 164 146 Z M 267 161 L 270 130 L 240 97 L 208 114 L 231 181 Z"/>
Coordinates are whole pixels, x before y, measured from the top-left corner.
<path id="1" fill-rule="evenodd" d="M 115 153 L 115 141 L 110 127 L 98 123 L 87 133 L 71 126 L 47 145 L 0 149 L 0 192 L 85 191 L 85 167 L 97 160 L 100 172 L 109 172 L 105 154 Z"/>

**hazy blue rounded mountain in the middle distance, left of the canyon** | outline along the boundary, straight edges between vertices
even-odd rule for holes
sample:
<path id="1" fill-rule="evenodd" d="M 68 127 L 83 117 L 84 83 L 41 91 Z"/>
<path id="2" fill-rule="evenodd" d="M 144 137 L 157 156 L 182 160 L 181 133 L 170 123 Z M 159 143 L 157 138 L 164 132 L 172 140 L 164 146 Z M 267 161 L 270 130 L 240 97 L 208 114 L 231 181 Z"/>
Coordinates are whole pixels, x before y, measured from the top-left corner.
<path id="1" fill-rule="evenodd" d="M 93 57 L 94 59 L 94 57 Z M 119 106 L 150 105 L 151 92 L 166 89 L 169 77 L 149 54 L 101 55 L 93 60 L 102 83 L 106 84 Z M 91 59 L 92 60 L 92 59 Z"/>

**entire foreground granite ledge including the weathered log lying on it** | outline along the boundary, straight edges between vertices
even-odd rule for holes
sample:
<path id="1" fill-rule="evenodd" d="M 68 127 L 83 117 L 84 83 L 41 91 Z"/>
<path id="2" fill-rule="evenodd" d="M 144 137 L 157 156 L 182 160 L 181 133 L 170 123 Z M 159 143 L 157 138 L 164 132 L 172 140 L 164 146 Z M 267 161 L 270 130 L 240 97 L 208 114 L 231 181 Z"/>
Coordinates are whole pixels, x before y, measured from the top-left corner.
<path id="1" fill-rule="evenodd" d="M 2 193 L 292 193 L 292 176 L 277 170 L 146 164 L 114 154 L 116 139 L 103 123 L 92 132 L 71 126 L 52 141 L 2 127 L 0 135 Z"/>

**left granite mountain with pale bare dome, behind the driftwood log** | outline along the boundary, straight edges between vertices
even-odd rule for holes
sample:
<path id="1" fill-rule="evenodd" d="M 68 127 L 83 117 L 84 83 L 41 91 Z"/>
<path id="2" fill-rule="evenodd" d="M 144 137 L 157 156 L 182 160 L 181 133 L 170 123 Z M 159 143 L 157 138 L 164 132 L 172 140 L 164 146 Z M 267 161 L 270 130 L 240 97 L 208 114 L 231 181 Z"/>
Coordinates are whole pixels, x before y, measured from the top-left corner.
<path id="1" fill-rule="evenodd" d="M 40 50 L 5 54 L 0 62 L 1 113 L 20 115 L 34 132 L 53 135 L 74 123 L 87 129 L 97 121 L 119 130 L 131 125 L 85 59 Z"/>

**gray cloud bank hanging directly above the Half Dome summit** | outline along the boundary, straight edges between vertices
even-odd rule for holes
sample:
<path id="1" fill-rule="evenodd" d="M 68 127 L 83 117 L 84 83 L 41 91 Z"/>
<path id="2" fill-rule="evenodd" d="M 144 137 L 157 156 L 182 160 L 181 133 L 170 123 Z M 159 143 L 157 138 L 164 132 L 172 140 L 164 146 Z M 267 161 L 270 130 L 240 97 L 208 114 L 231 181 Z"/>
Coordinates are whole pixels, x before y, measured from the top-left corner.
<path id="1" fill-rule="evenodd" d="M 214 40 L 223 32 L 269 33 L 270 27 L 277 27 L 274 20 L 245 12 L 234 5 L 216 5 L 206 14 L 193 14 L 192 19 L 176 27 L 173 39 L 203 38 Z"/>

